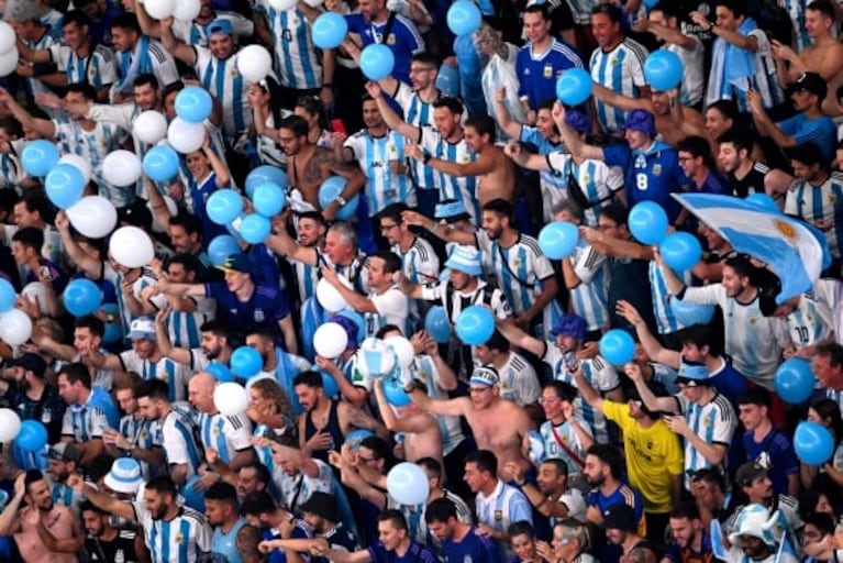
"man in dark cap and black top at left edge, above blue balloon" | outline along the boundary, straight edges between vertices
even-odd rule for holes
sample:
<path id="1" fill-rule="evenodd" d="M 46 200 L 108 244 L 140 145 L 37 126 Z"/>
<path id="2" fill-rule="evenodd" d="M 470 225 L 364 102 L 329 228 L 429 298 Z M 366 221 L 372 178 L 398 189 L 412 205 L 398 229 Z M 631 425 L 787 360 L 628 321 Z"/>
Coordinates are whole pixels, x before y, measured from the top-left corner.
<path id="1" fill-rule="evenodd" d="M 0 390 L 21 420 L 41 420 L 47 428 L 48 442 L 56 443 L 67 406 L 58 389 L 45 380 L 46 369 L 47 363 L 41 355 L 27 352 L 4 369 Z M 7 378 L 9 371 L 11 380 Z"/>

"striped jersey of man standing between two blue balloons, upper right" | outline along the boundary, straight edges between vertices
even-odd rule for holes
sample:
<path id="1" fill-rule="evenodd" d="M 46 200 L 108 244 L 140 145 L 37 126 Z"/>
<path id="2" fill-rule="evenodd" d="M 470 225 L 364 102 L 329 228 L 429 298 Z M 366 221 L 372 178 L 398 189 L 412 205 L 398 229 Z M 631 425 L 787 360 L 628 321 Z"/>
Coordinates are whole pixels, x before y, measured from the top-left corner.
<path id="1" fill-rule="evenodd" d="M 646 85 L 644 59 L 647 54 L 647 49 L 642 44 L 629 37 L 608 53 L 597 48 L 591 54 L 589 63 L 591 78 L 615 93 L 637 98 L 640 89 Z M 603 131 L 617 134 L 623 130 L 625 122 L 623 110 L 597 99 L 595 108 Z"/>

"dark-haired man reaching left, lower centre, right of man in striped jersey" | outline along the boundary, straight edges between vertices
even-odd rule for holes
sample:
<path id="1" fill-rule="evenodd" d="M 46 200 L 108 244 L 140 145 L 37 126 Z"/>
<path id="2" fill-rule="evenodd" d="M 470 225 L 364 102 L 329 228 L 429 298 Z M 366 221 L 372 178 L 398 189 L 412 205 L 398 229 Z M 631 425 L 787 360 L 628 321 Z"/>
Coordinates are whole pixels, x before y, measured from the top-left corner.
<path id="1" fill-rule="evenodd" d="M 551 527 L 564 518 L 586 519 L 586 499 L 579 489 L 568 487 L 568 465 L 558 457 L 551 457 L 539 465 L 535 484 L 524 477 L 524 472 L 508 463 L 503 471 L 511 473 L 512 482 L 521 487 L 530 505 L 551 520 Z"/>

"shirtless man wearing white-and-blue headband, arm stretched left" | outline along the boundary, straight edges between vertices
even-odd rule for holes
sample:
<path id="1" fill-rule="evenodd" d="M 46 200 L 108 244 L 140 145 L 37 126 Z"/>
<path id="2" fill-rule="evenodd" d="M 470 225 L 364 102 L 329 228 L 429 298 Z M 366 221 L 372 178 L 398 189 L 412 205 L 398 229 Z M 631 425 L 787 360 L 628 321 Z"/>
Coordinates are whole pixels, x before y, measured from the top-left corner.
<path id="1" fill-rule="evenodd" d="M 477 449 L 489 450 L 498 459 L 498 475 L 501 478 L 509 476 L 509 473 L 503 474 L 503 467 L 510 462 L 518 464 L 522 471 L 533 468 L 521 450 L 524 437 L 533 430 L 533 422 L 524 409 L 500 398 L 495 368 L 475 368 L 469 379 L 468 397 L 431 399 L 412 380 L 404 384 L 404 391 L 414 405 L 431 415 L 465 417 L 477 441 Z"/>

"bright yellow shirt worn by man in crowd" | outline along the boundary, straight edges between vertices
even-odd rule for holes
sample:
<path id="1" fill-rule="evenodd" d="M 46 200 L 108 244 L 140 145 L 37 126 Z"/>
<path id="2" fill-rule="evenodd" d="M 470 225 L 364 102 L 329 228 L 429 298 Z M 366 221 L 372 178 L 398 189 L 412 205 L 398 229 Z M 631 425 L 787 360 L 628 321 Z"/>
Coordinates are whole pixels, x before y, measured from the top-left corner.
<path id="1" fill-rule="evenodd" d="M 625 402 L 603 400 L 603 413 L 623 431 L 626 474 L 630 485 L 644 497 L 644 509 L 669 512 L 673 509 L 670 483 L 673 476 L 681 475 L 684 470 L 679 437 L 661 419 L 650 428 L 642 428 L 630 416 Z"/>

